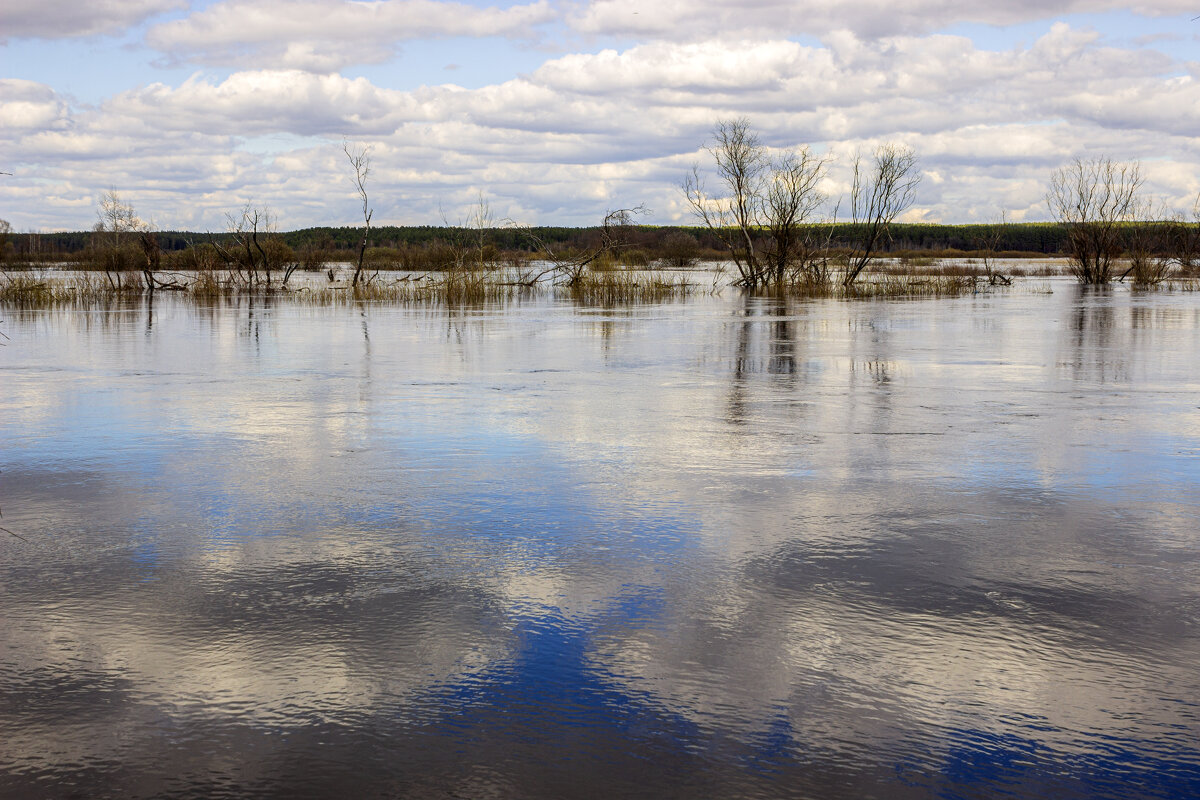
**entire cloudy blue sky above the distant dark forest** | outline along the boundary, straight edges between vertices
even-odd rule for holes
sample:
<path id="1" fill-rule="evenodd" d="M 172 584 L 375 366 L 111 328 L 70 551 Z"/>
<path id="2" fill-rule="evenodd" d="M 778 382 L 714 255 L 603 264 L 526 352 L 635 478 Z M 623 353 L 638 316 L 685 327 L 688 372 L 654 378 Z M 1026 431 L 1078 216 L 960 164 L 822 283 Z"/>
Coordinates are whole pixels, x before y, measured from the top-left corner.
<path id="1" fill-rule="evenodd" d="M 1200 193 L 1200 2 L 1153 0 L 5 0 L 0 218 L 86 229 L 113 190 L 160 229 L 598 224 L 679 185 L 718 120 L 774 154 L 913 148 L 914 222 L 1045 219 L 1075 157 Z"/>

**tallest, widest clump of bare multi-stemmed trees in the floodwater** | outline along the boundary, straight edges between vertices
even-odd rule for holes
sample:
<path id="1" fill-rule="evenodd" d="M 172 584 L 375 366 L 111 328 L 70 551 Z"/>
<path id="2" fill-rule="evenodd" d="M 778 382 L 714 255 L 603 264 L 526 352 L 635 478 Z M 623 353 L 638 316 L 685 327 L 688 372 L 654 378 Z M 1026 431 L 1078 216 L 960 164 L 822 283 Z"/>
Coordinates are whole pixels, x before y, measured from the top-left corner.
<path id="1" fill-rule="evenodd" d="M 782 283 L 811 253 L 805 223 L 826 199 L 827 160 L 806 146 L 772 160 L 745 118 L 719 120 L 707 149 L 721 191 L 709 196 L 692 167 L 682 187 L 692 212 L 725 245 L 740 285 Z"/>

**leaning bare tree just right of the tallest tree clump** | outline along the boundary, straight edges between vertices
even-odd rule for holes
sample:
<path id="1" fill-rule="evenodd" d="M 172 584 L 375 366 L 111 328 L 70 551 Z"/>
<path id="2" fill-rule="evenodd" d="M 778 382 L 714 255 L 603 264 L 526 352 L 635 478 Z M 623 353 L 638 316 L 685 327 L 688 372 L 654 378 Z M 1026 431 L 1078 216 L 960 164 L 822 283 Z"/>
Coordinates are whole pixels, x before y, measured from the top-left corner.
<path id="1" fill-rule="evenodd" d="M 854 176 L 850 187 L 850 233 L 852 249 L 846 263 L 844 285 L 852 285 L 888 239 L 892 222 L 917 199 L 920 172 L 917 154 L 907 145 L 886 143 L 864 164 L 863 154 L 854 156 Z"/>

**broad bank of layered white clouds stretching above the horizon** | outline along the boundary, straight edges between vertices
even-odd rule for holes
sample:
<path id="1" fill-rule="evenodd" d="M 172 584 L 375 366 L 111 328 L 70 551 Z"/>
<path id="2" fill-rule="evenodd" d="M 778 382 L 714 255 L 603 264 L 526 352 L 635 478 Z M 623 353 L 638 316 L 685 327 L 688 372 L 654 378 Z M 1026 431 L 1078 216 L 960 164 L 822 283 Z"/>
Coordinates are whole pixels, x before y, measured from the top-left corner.
<path id="1" fill-rule="evenodd" d="M 688 218 L 676 187 L 704 162 L 713 122 L 745 115 L 770 146 L 809 143 L 835 156 L 834 194 L 850 154 L 898 140 L 926 170 L 922 218 L 983 221 L 1001 209 L 1043 218 L 1046 175 L 1075 155 L 1172 164 L 1153 172 L 1153 191 L 1175 204 L 1194 197 L 1196 78 L 1162 53 L 1057 24 L 998 52 L 944 35 L 649 42 L 548 60 L 478 89 L 252 70 L 72 109 L 48 86 L 10 80 L 0 83 L 0 148 L 19 168 L 0 200 L 30 209 L 29 223 L 79 225 L 74 206 L 26 201 L 40 190 L 20 175 L 36 170 L 55 197 L 137 188 L 161 222 L 180 227 L 220 225 L 247 198 L 269 200 L 286 227 L 348 222 L 340 142 L 349 136 L 376 145 L 378 222 L 436 223 L 439 206 L 452 218 L 479 191 L 500 218 L 584 224 L 644 203 L 668 222 Z"/>

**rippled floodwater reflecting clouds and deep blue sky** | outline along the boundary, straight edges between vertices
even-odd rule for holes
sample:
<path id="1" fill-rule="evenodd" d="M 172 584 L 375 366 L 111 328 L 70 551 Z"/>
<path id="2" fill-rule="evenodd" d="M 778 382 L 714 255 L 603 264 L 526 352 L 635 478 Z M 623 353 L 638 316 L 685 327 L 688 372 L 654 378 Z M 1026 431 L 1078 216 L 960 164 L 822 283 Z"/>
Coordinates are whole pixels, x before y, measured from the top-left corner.
<path id="1" fill-rule="evenodd" d="M 0 795 L 1200 796 L 1200 295 L 0 313 Z"/>

